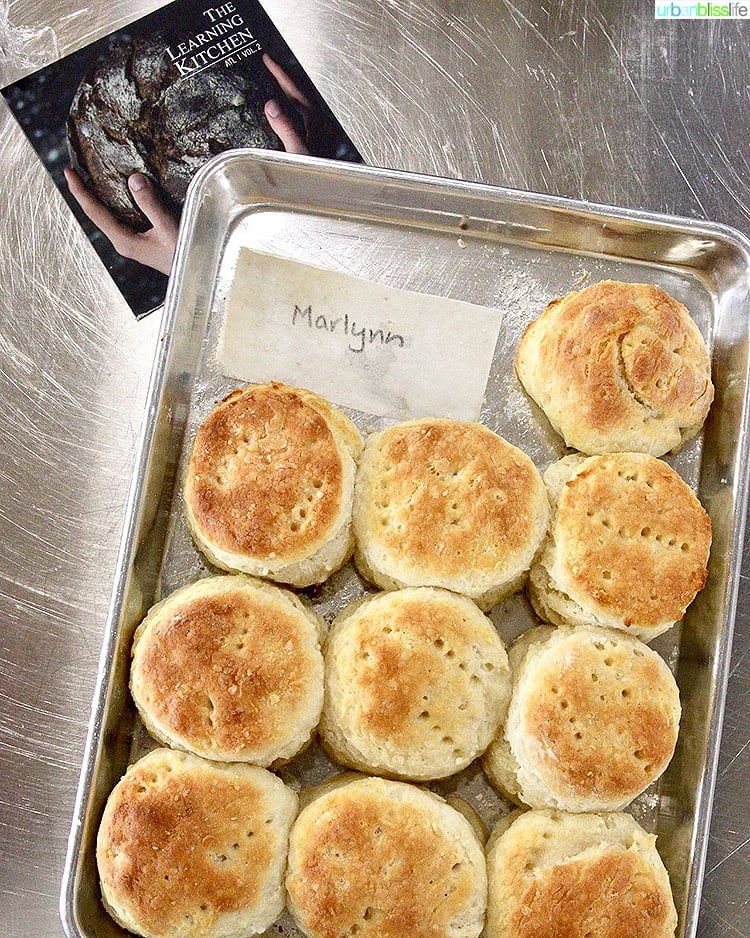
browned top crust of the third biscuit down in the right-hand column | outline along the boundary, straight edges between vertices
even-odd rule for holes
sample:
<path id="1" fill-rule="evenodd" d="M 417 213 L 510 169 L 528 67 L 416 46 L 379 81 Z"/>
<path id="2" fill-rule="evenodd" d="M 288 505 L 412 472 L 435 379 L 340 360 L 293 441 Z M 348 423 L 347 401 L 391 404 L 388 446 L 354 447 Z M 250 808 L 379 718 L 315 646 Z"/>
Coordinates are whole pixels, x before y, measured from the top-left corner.
<path id="1" fill-rule="evenodd" d="M 524 746 L 540 777 L 566 799 L 625 804 L 674 752 L 677 685 L 659 655 L 636 639 L 560 629 L 534 656 L 518 693 Z"/>

